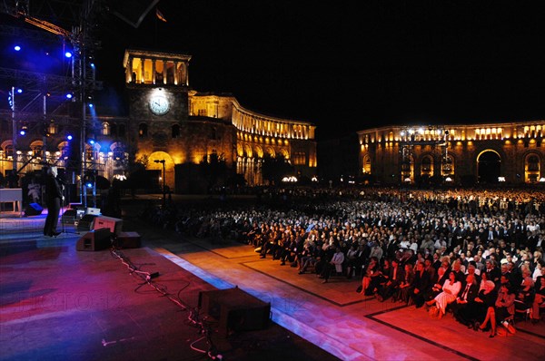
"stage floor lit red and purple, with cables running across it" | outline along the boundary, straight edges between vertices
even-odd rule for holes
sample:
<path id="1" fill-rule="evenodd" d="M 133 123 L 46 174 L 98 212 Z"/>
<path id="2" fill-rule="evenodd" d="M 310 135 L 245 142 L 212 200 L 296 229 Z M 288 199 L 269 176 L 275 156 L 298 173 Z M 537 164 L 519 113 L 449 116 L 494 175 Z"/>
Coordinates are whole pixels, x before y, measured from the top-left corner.
<path id="1" fill-rule="evenodd" d="M 216 289 L 201 278 L 153 249 L 76 251 L 76 240 L 0 245 L 0 359 L 336 359 L 272 322 L 220 334 L 214 319 L 190 317 Z"/>

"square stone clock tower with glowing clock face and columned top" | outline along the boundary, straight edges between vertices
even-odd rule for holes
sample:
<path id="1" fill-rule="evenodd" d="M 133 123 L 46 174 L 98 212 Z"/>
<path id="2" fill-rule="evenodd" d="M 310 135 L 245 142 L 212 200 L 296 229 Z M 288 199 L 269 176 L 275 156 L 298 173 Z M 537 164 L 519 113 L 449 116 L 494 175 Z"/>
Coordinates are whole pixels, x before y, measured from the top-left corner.
<path id="1" fill-rule="evenodd" d="M 128 49 L 124 53 L 130 141 L 136 148 L 134 158 L 136 161 L 147 158 L 147 169 L 164 177 L 171 190 L 174 165 L 183 161 L 180 149 L 189 113 L 190 59 L 189 55 L 147 50 Z M 162 186 L 163 181 L 158 184 Z"/>

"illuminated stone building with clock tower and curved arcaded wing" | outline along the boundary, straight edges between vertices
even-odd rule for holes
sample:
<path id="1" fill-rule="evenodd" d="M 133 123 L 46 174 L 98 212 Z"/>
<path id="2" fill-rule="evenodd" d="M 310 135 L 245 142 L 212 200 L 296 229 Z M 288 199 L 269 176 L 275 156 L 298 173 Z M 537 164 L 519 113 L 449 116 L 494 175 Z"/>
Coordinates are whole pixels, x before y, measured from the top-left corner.
<path id="1" fill-rule="evenodd" d="M 182 193 L 206 190 L 196 166 L 214 155 L 242 174 L 248 185 L 263 184 L 263 159 L 278 155 L 292 164 L 294 175 L 311 178 L 316 174 L 312 123 L 250 111 L 232 94 L 190 89 L 190 60 L 185 54 L 125 51 L 128 116 L 105 115 L 96 106 L 86 113 L 85 155 L 79 160 L 84 170 L 113 180 L 126 175 L 133 157 L 164 177 L 170 190 Z M 54 114 L 45 115 L 2 112 L 0 171 L 6 174 L 17 168 L 18 174 L 24 174 L 41 169 L 44 160 L 75 168 L 69 164 L 68 153 L 78 149 L 70 145 L 66 134 L 79 133 L 82 112 L 73 108 L 61 104 Z M 23 120 L 30 131 L 25 137 L 14 131 L 16 127 L 18 132 Z M 74 182 L 81 181 L 78 172 L 73 173 Z"/>

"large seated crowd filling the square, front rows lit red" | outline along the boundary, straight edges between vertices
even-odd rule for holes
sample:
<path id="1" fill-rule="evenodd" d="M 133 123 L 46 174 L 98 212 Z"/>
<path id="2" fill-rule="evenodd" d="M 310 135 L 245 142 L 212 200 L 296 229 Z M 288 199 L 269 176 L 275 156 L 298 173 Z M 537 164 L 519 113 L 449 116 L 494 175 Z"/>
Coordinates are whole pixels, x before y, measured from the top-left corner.
<path id="1" fill-rule="evenodd" d="M 169 222 L 185 235 L 236 239 L 322 283 L 361 279 L 362 295 L 452 312 L 493 337 L 498 325 L 513 330 L 516 312 L 538 322 L 545 307 L 543 205 L 543 194 L 523 190 L 381 188 L 195 206 L 170 211 Z"/>

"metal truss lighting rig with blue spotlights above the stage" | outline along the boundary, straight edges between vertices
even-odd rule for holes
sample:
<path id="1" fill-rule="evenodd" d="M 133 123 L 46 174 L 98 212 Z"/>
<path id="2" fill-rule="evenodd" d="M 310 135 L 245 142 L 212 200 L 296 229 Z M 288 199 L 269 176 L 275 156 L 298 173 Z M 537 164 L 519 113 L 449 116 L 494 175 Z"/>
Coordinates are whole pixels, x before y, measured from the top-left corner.
<path id="1" fill-rule="evenodd" d="M 53 0 L 49 2 L 54 3 Z M 55 87 L 61 86 L 63 89 L 70 89 L 70 98 L 67 98 L 70 102 L 81 102 L 81 136 L 80 136 L 80 180 L 84 179 L 85 171 L 88 168 L 88 162 L 85 159 L 85 139 L 86 139 L 86 126 L 87 126 L 87 106 L 90 106 L 89 97 L 92 97 L 94 91 L 102 89 L 102 83 L 95 80 L 95 69 L 94 69 L 94 50 L 100 47 L 100 43 L 94 41 L 92 36 L 93 26 L 95 24 L 96 15 L 100 12 L 100 2 L 95 2 L 94 0 L 84 0 L 82 2 L 63 2 L 62 5 L 66 7 L 62 14 L 74 15 L 74 18 L 68 19 L 72 24 L 78 24 L 72 26 L 72 31 L 65 30 L 62 26 L 52 24 L 40 16 L 48 17 L 45 15 L 45 9 L 54 9 L 55 6 L 44 6 L 44 7 L 31 7 L 30 0 L 24 1 L 13 1 L 5 2 L 3 6 L 0 6 L 0 12 L 3 12 L 8 15 L 13 15 L 16 18 L 23 19 L 25 23 L 32 24 L 35 27 L 45 30 L 46 32 L 54 35 L 58 35 L 62 38 L 64 43 L 72 45 L 72 51 L 66 51 L 65 56 L 70 59 L 71 62 L 71 76 L 56 76 L 53 74 L 44 74 L 44 73 L 33 73 L 33 72 L 24 72 L 20 70 L 5 69 L 0 68 L 0 77 L 11 78 L 16 82 L 34 84 L 38 85 L 40 89 L 47 89 L 47 91 L 42 93 L 49 93 Z M 70 9 L 68 9 L 70 7 Z M 42 14 L 33 14 L 31 15 L 29 9 L 37 9 L 37 12 L 42 12 Z M 50 18 L 57 18 L 54 14 L 49 15 Z M 13 34 L 20 34 L 23 36 L 29 35 L 34 36 L 35 40 L 41 35 L 36 35 L 36 32 L 33 32 L 29 29 L 24 28 L 9 28 L 7 25 L 0 26 L 0 33 L 11 32 Z M 57 40 L 58 42 L 58 40 Z M 19 46 L 15 51 L 22 51 L 23 49 Z M 16 140 L 17 136 L 20 136 L 17 132 L 16 120 L 21 113 L 17 109 L 17 114 L 15 114 L 15 93 L 12 90 L 10 101 L 13 102 L 11 105 L 12 108 L 12 122 L 13 122 L 13 146 L 14 146 L 14 157 L 13 157 L 13 170 L 19 172 L 23 170 L 22 167 L 17 171 L 17 156 L 16 154 Z M 45 99 L 45 95 L 44 95 Z M 44 100 L 45 104 L 45 100 Z M 42 160 L 46 162 L 45 158 L 45 137 L 46 137 L 46 116 L 45 116 L 45 105 L 44 105 L 44 146 L 43 152 L 44 156 Z M 28 129 L 28 125 L 27 125 Z M 58 160 L 57 160 L 58 161 Z M 15 173 L 16 175 L 16 173 Z M 83 194 L 86 192 L 84 182 L 80 181 L 80 201 L 83 202 Z M 86 194 L 86 193 L 85 193 Z M 85 204 L 86 206 L 86 204 Z"/>

